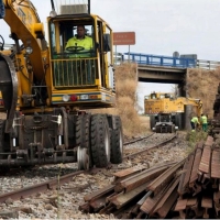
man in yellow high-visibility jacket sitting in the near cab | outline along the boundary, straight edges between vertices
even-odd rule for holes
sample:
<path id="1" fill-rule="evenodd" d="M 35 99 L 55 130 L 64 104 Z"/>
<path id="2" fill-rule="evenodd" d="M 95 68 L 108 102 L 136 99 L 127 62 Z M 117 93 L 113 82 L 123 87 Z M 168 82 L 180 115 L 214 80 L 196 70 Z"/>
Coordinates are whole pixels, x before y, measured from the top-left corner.
<path id="1" fill-rule="evenodd" d="M 92 38 L 86 35 L 85 26 L 78 25 L 77 35 L 68 40 L 65 48 L 74 53 L 76 57 L 90 57 L 92 47 Z"/>

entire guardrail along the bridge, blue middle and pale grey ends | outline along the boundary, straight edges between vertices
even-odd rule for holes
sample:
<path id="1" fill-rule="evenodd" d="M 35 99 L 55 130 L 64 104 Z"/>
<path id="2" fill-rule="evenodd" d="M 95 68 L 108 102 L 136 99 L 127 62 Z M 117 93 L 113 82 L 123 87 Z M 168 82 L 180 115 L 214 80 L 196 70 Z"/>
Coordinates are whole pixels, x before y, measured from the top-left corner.
<path id="1" fill-rule="evenodd" d="M 123 62 L 135 62 L 141 65 L 166 66 L 177 68 L 204 68 L 215 69 L 220 66 L 220 62 L 194 59 L 184 57 L 139 54 L 139 53 L 117 53 L 114 54 L 114 65 Z"/>

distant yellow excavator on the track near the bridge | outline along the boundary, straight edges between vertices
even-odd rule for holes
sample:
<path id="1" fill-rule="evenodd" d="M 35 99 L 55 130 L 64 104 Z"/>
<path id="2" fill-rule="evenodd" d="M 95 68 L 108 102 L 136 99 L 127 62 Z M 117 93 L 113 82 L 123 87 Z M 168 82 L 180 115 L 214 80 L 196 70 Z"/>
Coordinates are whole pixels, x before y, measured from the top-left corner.
<path id="1" fill-rule="evenodd" d="M 202 102 L 199 99 L 155 91 L 144 97 L 145 114 L 150 116 L 150 128 L 156 133 L 173 133 L 182 129 L 187 106 L 193 107 L 189 114 L 201 116 Z"/>

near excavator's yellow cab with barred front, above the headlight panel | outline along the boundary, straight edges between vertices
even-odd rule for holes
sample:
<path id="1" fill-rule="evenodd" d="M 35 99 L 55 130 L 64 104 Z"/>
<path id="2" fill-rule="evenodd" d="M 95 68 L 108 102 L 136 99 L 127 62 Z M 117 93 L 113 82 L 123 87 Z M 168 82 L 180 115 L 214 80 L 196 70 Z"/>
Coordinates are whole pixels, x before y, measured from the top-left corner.
<path id="1" fill-rule="evenodd" d="M 73 11 L 77 6 L 73 6 Z M 63 11 L 63 13 L 65 10 Z M 77 36 L 77 26 L 84 26 L 91 46 L 77 43 L 67 47 L 67 42 Z M 61 14 L 48 19 L 53 87 L 112 88 L 112 31 L 99 16 L 91 14 Z"/>

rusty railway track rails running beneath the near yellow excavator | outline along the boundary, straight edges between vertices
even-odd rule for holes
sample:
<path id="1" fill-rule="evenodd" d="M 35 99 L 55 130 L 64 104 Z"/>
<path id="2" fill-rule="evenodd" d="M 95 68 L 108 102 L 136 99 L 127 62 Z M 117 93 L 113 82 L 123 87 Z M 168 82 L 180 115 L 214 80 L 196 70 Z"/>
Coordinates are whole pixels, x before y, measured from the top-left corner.
<path id="1" fill-rule="evenodd" d="M 141 142 L 141 141 L 146 141 L 147 139 L 152 138 L 153 134 L 151 135 L 147 135 L 145 138 L 141 138 L 141 139 L 136 139 L 136 140 L 132 140 L 131 142 L 127 142 L 125 143 L 125 146 L 129 146 L 131 144 L 134 144 L 136 142 Z M 166 144 L 167 142 L 170 142 L 173 139 L 175 139 L 175 135 L 172 136 L 170 139 L 166 139 L 164 141 L 164 144 Z M 158 144 L 151 144 L 148 147 L 146 148 L 142 148 L 141 151 L 138 151 L 133 154 L 128 154 L 124 156 L 124 160 L 132 160 L 133 157 L 138 156 L 138 155 L 141 155 L 143 154 L 143 152 L 146 152 L 146 151 L 150 151 L 154 147 L 160 147 L 162 146 L 163 143 L 158 143 Z M 96 174 L 100 172 L 100 169 L 98 168 L 94 168 L 90 170 L 90 174 Z M 35 195 L 35 194 L 38 194 L 38 193 L 44 193 L 46 190 L 51 190 L 51 189 L 57 189 L 57 188 L 61 188 L 61 186 L 69 180 L 72 180 L 73 178 L 75 178 L 77 175 L 80 175 L 80 174 L 88 174 L 88 172 L 74 172 L 74 173 L 70 173 L 70 174 L 67 174 L 67 175 L 64 175 L 64 176 L 61 176 L 59 178 L 54 178 L 52 180 L 47 180 L 47 182 L 44 182 L 44 183 L 41 183 L 41 184 L 36 184 L 34 186 L 29 186 L 29 187 L 24 187 L 24 188 L 20 188 L 20 189 L 16 189 L 14 191 L 9 191 L 9 193 L 6 193 L 6 194 L 0 194 L 0 202 L 6 202 L 7 199 L 12 199 L 12 200 L 19 200 L 19 199 L 24 199 L 24 198 L 28 198 L 30 197 L 31 195 Z"/>

